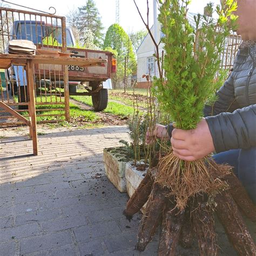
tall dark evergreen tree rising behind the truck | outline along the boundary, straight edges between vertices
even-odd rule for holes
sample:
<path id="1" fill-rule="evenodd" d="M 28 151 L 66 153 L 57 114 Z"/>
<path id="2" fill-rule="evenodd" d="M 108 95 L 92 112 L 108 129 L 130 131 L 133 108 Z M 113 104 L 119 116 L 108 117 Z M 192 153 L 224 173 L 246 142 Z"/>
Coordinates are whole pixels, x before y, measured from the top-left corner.
<path id="1" fill-rule="evenodd" d="M 93 0 L 87 0 L 86 5 L 78 8 L 78 29 L 80 31 L 81 38 L 80 40 L 83 43 L 85 38 L 83 35 L 86 34 L 86 31 L 90 30 L 94 36 L 94 44 L 97 46 L 102 45 L 103 41 L 103 29 L 104 26 L 99 15 L 99 11 L 96 7 L 96 4 Z"/>

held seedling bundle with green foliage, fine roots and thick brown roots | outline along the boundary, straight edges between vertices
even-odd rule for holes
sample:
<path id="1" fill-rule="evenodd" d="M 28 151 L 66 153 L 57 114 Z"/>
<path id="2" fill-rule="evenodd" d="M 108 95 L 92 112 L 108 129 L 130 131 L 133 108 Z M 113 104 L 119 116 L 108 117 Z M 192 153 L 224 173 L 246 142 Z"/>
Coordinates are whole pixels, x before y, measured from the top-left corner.
<path id="1" fill-rule="evenodd" d="M 170 114 L 178 129 L 197 127 L 206 101 L 219 87 L 214 81 L 220 53 L 237 19 L 233 15 L 236 1 L 224 2 L 215 10 L 217 19 L 197 15 L 193 27 L 187 19 L 189 0 L 159 0 L 164 73 L 154 78 L 153 86 L 161 110 Z M 255 221 L 255 205 L 231 167 L 215 164 L 211 156 L 180 160 L 171 146 L 164 149 L 158 165 L 146 174 L 124 212 L 131 219 L 148 202 L 139 226 L 137 250 L 145 249 L 160 225 L 159 255 L 176 255 L 178 242 L 190 247 L 194 235 L 200 255 L 217 255 L 215 211 L 235 250 L 240 255 L 256 255 L 240 213 L 242 210 Z"/>

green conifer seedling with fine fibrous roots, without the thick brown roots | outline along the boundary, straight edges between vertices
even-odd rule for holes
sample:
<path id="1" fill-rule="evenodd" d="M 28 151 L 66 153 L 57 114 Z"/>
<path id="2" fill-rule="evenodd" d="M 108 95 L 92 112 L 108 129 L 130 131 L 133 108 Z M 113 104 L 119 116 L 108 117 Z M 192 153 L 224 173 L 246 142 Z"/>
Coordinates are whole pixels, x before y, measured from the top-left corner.
<path id="1" fill-rule="evenodd" d="M 154 78 L 154 93 L 160 108 L 169 113 L 178 129 L 197 127 L 203 117 L 207 99 L 219 87 L 215 75 L 220 67 L 220 54 L 225 38 L 230 35 L 237 16 L 234 0 L 217 6 L 217 19 L 205 15 L 194 16 L 194 27 L 187 19 L 190 0 L 159 0 L 159 22 L 164 34 L 164 76 Z M 213 9 L 213 4 L 207 8 Z M 160 159 L 157 182 L 171 189 L 177 207 L 184 210 L 187 200 L 198 192 L 211 193 L 223 187 L 219 178 L 212 178 L 207 166 L 208 157 L 197 161 L 183 161 L 172 153 Z M 216 170 L 217 171 L 217 170 Z"/>

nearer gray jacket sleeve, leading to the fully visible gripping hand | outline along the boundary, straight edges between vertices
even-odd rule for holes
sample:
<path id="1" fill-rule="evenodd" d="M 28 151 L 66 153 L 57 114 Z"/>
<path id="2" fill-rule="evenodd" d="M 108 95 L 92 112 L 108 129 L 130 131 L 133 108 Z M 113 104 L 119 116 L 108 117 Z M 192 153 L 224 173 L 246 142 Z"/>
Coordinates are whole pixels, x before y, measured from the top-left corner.
<path id="1" fill-rule="evenodd" d="M 256 146 L 256 104 L 206 117 L 217 153 Z"/>

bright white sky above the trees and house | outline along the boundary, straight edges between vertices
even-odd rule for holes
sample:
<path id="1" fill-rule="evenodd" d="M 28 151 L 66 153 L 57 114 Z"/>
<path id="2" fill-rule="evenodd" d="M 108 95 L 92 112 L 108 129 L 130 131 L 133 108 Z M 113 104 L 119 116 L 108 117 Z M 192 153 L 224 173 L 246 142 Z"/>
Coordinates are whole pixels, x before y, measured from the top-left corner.
<path id="1" fill-rule="evenodd" d="M 48 11 L 50 6 L 56 8 L 56 15 L 66 16 L 69 11 L 77 9 L 80 6 L 86 4 L 86 0 L 6 0 L 8 2 L 22 4 L 42 11 Z M 136 0 L 140 11 L 143 16 L 146 17 L 146 0 Z M 192 4 L 189 8 L 190 12 L 203 13 L 204 6 L 208 2 L 219 4 L 219 0 L 192 0 Z M 96 6 L 99 10 L 99 14 L 102 17 L 102 23 L 105 27 L 105 31 L 109 26 L 116 22 L 116 0 L 95 0 Z M 18 6 L 6 3 L 11 8 L 23 9 Z M 150 4 L 150 25 L 153 24 L 153 0 L 149 0 Z M 145 29 L 143 22 L 141 21 L 136 6 L 133 0 L 119 0 L 119 20 L 120 25 L 127 33 L 136 32 Z"/>

